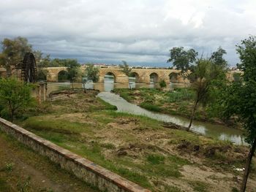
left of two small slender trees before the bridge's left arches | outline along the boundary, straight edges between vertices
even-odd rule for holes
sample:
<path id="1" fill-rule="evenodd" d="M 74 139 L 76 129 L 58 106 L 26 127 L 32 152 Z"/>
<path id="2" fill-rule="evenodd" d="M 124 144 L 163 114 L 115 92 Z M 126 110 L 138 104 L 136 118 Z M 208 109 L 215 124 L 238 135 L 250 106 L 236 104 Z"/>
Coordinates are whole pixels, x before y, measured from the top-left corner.
<path id="1" fill-rule="evenodd" d="M 75 59 L 69 60 L 67 67 L 67 78 L 72 84 L 72 90 L 74 90 L 73 82 L 80 76 L 80 64 Z"/>

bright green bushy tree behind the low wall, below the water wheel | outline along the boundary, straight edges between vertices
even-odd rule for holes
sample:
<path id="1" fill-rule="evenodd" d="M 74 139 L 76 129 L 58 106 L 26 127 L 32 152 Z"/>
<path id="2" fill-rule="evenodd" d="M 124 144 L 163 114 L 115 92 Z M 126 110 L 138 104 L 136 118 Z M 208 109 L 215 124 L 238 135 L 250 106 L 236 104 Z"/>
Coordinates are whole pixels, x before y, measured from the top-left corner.
<path id="1" fill-rule="evenodd" d="M 13 121 L 14 115 L 20 109 L 31 104 L 31 87 L 13 77 L 0 79 L 0 104 L 10 112 Z"/>

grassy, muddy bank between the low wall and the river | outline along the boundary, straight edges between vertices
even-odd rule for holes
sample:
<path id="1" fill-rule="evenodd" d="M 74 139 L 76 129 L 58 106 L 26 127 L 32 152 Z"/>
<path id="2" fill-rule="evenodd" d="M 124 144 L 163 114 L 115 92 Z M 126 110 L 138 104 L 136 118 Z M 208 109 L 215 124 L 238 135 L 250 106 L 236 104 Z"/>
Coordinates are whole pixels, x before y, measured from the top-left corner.
<path id="1" fill-rule="evenodd" d="M 184 167 L 239 175 L 233 166 L 241 167 L 247 152 L 246 147 L 164 128 L 157 120 L 114 112 L 115 107 L 92 92 L 57 94 L 42 109 L 39 116 L 19 123 L 154 191 L 191 191 L 198 186 L 211 190 L 212 182 L 186 176 Z M 225 185 L 238 183 L 231 177 Z"/>

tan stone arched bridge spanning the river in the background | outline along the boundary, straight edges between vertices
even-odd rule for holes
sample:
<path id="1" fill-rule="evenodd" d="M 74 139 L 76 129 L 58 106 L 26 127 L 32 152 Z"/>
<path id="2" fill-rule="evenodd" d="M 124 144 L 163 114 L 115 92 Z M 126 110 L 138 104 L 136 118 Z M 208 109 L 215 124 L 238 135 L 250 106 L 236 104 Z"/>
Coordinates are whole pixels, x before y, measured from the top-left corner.
<path id="1" fill-rule="evenodd" d="M 81 67 L 82 72 L 85 69 L 84 66 Z M 59 72 L 67 71 L 67 67 L 48 67 L 47 70 L 47 80 L 57 82 Z M 117 83 L 128 83 L 129 80 L 120 68 L 99 68 L 99 82 L 104 82 L 105 75 L 113 75 L 114 82 Z M 166 83 L 184 82 L 176 69 L 132 69 L 132 77 L 135 77 L 135 82 L 138 83 L 150 83 L 151 80 L 154 82 L 165 80 Z"/>

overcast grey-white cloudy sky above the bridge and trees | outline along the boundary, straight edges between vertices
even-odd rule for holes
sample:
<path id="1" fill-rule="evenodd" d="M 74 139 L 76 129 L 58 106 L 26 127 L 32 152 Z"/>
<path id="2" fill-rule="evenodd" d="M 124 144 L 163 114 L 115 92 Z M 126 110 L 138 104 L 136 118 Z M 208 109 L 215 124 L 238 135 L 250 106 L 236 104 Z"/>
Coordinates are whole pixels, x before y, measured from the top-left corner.
<path id="1" fill-rule="evenodd" d="M 52 58 L 168 66 L 169 50 L 210 55 L 256 34 L 256 0 L 0 0 L 0 40 L 26 37 Z"/>

